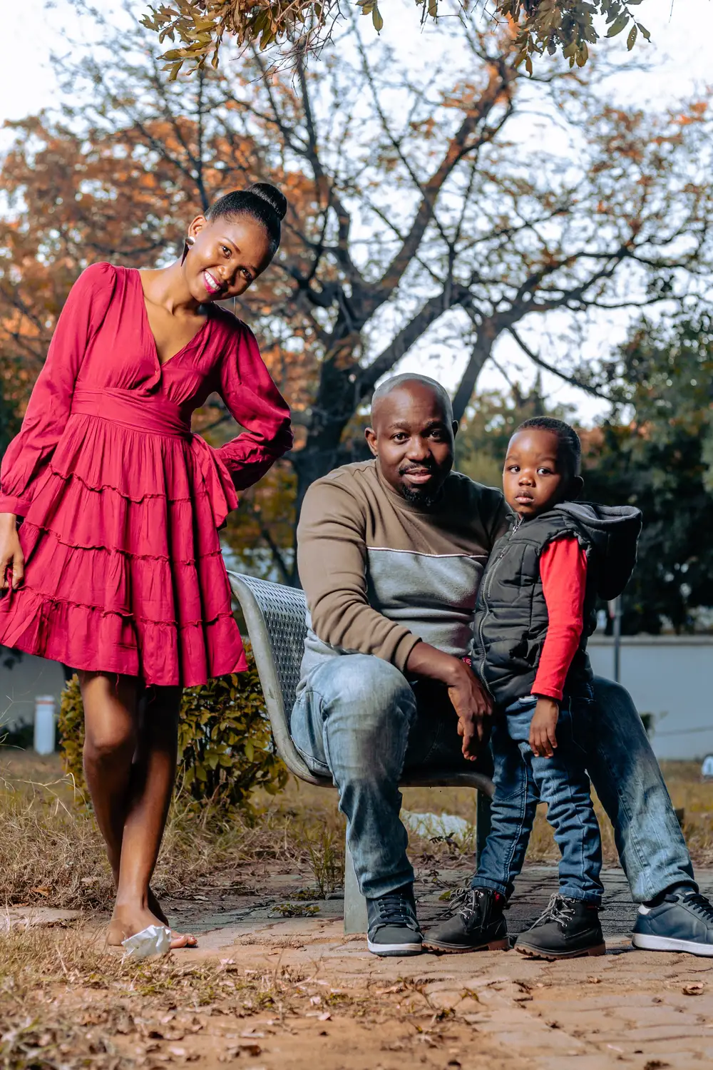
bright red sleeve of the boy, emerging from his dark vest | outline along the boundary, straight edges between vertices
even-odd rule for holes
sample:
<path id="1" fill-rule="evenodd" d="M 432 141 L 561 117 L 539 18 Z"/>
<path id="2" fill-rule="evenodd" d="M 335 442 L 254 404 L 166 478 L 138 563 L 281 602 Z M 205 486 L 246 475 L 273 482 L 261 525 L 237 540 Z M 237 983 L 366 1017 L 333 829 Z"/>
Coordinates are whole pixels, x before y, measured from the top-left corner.
<path id="1" fill-rule="evenodd" d="M 561 699 L 584 627 L 587 554 L 577 539 L 551 542 L 540 559 L 540 576 L 548 623 L 532 694 Z"/>

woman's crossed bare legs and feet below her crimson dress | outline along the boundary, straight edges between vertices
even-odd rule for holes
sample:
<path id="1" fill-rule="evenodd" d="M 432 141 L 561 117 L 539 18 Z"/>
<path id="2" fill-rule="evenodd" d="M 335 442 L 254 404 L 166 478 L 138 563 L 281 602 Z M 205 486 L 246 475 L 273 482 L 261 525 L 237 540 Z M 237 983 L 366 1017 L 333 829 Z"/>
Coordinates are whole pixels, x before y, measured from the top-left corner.
<path id="1" fill-rule="evenodd" d="M 156 865 L 175 777 L 180 688 L 157 688 L 139 704 L 130 677 L 81 675 L 84 770 L 117 883 L 108 942 L 167 919 L 149 882 Z M 140 705 L 148 708 L 140 709 Z M 173 947 L 195 943 L 175 936 Z"/>

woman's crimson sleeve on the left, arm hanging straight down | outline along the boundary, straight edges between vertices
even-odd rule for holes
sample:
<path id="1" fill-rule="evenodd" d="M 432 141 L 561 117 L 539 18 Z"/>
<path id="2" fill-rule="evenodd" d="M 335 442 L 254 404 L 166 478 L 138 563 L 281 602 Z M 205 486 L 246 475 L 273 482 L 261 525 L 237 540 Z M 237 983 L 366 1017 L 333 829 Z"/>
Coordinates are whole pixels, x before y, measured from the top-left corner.
<path id="1" fill-rule="evenodd" d="M 69 291 L 22 426 L 2 459 L 0 513 L 24 517 L 30 508 L 34 485 L 49 463 L 69 418 L 81 362 L 106 316 L 114 278 L 110 264 L 93 264 Z"/>

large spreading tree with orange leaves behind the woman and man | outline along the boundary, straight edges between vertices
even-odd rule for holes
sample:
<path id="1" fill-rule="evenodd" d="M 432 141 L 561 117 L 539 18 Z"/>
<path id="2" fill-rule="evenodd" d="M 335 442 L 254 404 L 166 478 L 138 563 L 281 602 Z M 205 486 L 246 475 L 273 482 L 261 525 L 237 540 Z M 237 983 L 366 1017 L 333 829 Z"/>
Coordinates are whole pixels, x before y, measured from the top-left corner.
<path id="1" fill-rule="evenodd" d="M 3 358 L 29 385 L 90 260 L 162 262 L 218 193 L 281 184 L 282 247 L 237 311 L 293 406 L 297 443 L 292 474 L 270 477 L 279 519 L 265 520 L 258 490 L 248 502 L 260 509 L 238 514 L 231 537 L 280 551 L 270 560 L 283 579 L 294 579 L 288 501 L 294 514 L 314 478 L 362 456 L 365 407 L 405 353 L 462 354 L 459 418 L 506 336 L 538 367 L 606 395 L 609 370 L 571 355 L 582 335 L 602 330 L 598 317 L 680 300 L 710 270 L 707 100 L 629 112 L 582 73 L 531 82 L 511 35 L 475 16 L 444 29 L 448 64 L 428 85 L 358 27 L 338 61 L 299 61 L 294 77 L 253 54 L 233 80 L 201 70 L 187 86 L 165 80 L 150 37 L 104 31 L 106 55 L 95 46 L 63 67 L 61 112 L 14 126 Z M 558 141 L 543 144 L 538 113 L 548 134 L 557 117 Z M 555 332 L 546 354 L 539 321 Z M 202 419 L 210 435 L 234 431 L 217 403 Z"/>

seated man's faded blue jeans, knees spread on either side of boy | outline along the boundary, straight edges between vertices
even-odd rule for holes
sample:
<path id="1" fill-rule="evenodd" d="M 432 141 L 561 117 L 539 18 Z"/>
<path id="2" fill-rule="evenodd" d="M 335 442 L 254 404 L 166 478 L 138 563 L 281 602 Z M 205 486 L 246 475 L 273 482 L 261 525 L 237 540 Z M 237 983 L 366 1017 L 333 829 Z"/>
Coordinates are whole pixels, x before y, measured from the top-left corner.
<path id="1" fill-rule="evenodd" d="M 671 800 L 629 693 L 596 679 L 594 698 L 596 732 L 587 768 L 614 825 L 635 901 L 675 885 L 695 888 Z M 383 896 L 413 881 L 399 820 L 400 777 L 405 768 L 425 765 L 472 769 L 461 754 L 445 688 L 413 688 L 398 669 L 370 654 L 335 655 L 308 674 L 290 728 L 308 766 L 331 775 L 339 789 L 362 895 Z"/>

